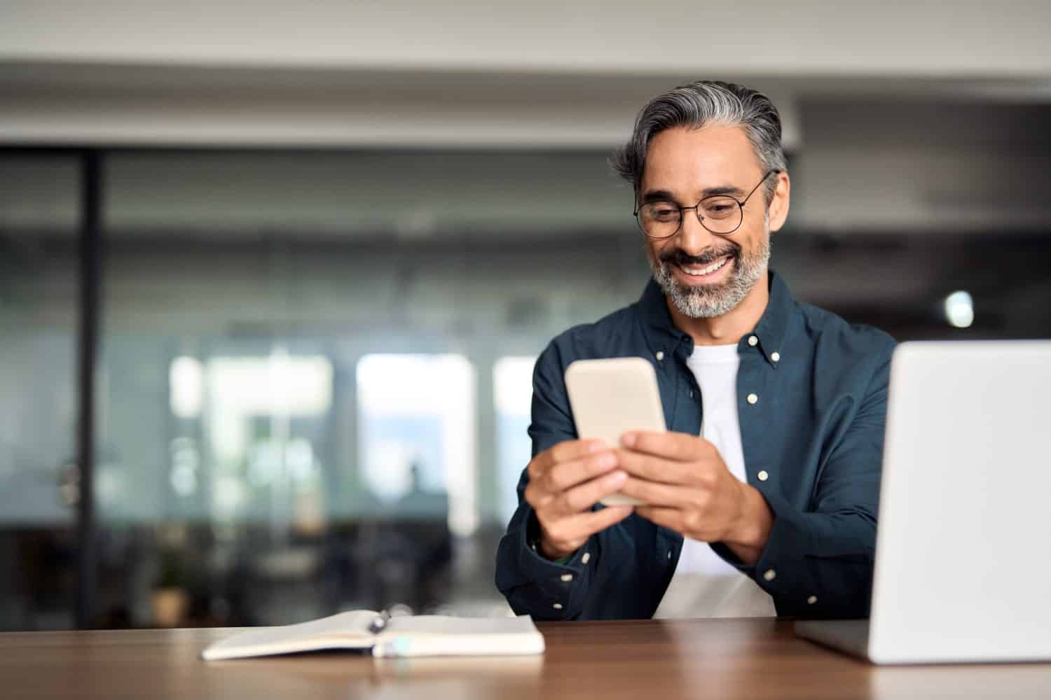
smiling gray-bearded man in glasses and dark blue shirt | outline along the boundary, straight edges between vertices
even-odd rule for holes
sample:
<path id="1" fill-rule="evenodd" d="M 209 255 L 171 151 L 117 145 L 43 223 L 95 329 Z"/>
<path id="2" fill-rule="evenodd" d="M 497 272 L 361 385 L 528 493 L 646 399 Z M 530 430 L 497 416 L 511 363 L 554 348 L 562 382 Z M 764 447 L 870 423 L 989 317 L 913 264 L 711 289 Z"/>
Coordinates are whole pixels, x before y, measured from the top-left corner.
<path id="1" fill-rule="evenodd" d="M 739 85 L 677 88 L 613 165 L 654 279 L 537 360 L 497 587 L 539 619 L 867 615 L 893 341 L 768 271 L 789 201 L 777 109 Z M 656 368 L 668 432 L 578 440 L 566 365 L 627 356 Z M 616 492 L 645 505 L 597 505 Z"/>

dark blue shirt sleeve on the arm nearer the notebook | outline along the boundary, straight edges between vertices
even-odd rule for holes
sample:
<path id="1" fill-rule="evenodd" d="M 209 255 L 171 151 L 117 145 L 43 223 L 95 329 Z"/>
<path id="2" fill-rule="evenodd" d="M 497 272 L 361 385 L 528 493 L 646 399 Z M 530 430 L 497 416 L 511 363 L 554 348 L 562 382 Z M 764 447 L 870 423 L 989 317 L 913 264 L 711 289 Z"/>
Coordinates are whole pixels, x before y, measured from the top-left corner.
<path id="1" fill-rule="evenodd" d="M 533 455 L 566 440 L 576 440 L 576 427 L 562 378 L 562 363 L 552 344 L 533 369 Z M 591 577 L 600 556 L 598 537 L 592 536 L 568 559 L 553 561 L 530 547 L 538 530 L 536 514 L 526 503 L 529 474 L 518 481 L 518 508 L 496 553 L 496 587 L 518 615 L 538 620 L 579 617 Z"/>

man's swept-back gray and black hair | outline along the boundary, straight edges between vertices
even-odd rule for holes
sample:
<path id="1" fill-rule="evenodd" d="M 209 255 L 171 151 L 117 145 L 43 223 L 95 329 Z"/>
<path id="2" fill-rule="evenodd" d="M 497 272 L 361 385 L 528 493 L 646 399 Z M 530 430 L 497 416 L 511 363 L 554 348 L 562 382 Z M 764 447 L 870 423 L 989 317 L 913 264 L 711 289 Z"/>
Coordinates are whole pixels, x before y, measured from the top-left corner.
<path id="1" fill-rule="evenodd" d="M 650 141 L 666 129 L 700 129 L 708 124 L 742 127 L 764 170 L 787 171 L 781 147 L 781 115 L 770 99 L 747 87 L 715 80 L 681 85 L 651 100 L 635 119 L 631 139 L 610 158 L 610 166 L 632 184 L 637 196 Z M 777 178 L 768 177 L 763 185 L 767 204 L 776 188 Z"/>

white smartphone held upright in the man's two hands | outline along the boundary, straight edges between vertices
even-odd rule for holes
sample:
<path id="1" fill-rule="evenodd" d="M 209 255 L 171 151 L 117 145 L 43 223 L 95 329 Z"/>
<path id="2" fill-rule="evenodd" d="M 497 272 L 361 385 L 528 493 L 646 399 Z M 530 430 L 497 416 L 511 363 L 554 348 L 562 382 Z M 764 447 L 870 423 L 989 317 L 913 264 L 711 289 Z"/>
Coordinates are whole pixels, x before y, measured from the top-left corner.
<path id="1" fill-rule="evenodd" d="M 657 373 L 641 357 L 606 360 L 577 360 L 565 368 L 577 437 L 597 438 L 610 447 L 620 445 L 628 430 L 667 429 L 661 407 Z M 620 493 L 602 499 L 606 506 L 640 506 L 642 503 Z"/>

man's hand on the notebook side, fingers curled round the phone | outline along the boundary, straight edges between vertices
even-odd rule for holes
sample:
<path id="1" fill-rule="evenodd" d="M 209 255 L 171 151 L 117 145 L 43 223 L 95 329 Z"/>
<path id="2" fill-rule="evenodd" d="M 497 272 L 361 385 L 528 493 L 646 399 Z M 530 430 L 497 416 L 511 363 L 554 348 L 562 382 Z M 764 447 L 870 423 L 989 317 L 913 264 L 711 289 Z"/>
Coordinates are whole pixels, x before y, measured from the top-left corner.
<path id="1" fill-rule="evenodd" d="M 627 481 L 617 454 L 598 440 L 571 440 L 529 463 L 526 502 L 540 524 L 540 553 L 549 559 L 573 554 L 588 537 L 632 514 L 632 506 L 592 506 Z"/>

